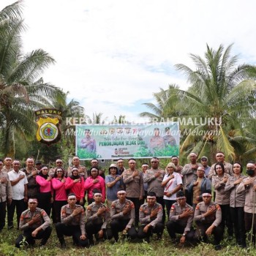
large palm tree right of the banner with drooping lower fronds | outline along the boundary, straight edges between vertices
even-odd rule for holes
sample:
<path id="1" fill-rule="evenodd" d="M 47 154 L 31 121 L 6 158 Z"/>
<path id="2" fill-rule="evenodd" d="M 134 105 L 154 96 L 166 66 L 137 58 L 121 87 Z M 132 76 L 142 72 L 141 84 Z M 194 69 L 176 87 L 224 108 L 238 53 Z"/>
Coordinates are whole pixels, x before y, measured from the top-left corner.
<path id="1" fill-rule="evenodd" d="M 238 56 L 230 56 L 232 45 L 226 49 L 220 45 L 213 50 L 207 45 L 205 59 L 190 54 L 196 70 L 184 64 L 176 68 L 184 75 L 191 86 L 187 91 L 168 89 L 159 95 L 169 94 L 163 109 L 176 102 L 184 117 L 203 118 L 213 122 L 194 124 L 184 136 L 181 152 L 196 151 L 200 156 L 210 154 L 214 159 L 217 150 L 233 159 L 236 154 L 233 136 L 238 129 L 254 123 L 255 114 L 255 67 L 237 67 Z M 178 117 L 178 116 L 177 116 Z"/>

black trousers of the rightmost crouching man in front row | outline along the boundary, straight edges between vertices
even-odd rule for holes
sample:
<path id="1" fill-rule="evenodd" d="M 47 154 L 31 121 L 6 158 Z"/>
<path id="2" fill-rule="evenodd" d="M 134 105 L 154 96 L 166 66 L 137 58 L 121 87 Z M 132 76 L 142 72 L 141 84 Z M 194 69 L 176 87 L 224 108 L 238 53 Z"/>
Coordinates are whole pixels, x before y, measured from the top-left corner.
<path id="1" fill-rule="evenodd" d="M 206 230 L 210 227 L 211 224 L 197 224 L 197 230 L 195 230 L 195 239 L 199 241 L 207 241 Z M 222 241 L 224 230 L 221 225 L 214 227 L 214 245 L 218 245 Z"/>

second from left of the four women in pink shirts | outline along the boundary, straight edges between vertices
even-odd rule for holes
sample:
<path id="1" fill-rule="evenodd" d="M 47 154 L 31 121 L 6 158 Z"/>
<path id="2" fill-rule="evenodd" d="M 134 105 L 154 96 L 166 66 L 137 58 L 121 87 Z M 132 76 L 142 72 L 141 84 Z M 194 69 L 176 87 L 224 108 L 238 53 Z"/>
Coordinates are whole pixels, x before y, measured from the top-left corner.
<path id="1" fill-rule="evenodd" d="M 64 177 L 64 170 L 57 167 L 52 179 L 53 187 L 53 209 L 54 217 L 53 223 L 61 222 L 61 207 L 67 204 L 67 192 L 65 189 L 66 178 Z"/>

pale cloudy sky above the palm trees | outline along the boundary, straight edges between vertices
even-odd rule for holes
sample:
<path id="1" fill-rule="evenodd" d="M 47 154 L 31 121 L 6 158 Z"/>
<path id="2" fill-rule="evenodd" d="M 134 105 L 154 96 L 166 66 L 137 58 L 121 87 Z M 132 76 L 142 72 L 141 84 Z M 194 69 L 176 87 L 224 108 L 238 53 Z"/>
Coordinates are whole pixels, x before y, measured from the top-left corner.
<path id="1" fill-rule="evenodd" d="M 255 64 L 255 10 L 253 0 L 25 0 L 23 51 L 53 56 L 42 78 L 86 115 L 139 122 L 160 88 L 188 88 L 174 65 L 194 68 L 189 53 L 203 56 L 206 44 L 233 43 L 239 64 Z"/>

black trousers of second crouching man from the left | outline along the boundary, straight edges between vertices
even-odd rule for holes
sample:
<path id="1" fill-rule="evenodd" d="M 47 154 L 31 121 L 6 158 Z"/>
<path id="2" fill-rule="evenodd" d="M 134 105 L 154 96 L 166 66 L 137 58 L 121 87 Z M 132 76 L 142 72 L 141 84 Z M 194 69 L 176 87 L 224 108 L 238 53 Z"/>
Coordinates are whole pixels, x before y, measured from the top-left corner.
<path id="1" fill-rule="evenodd" d="M 72 236 L 73 241 L 76 244 L 83 247 L 86 247 L 89 245 L 89 240 L 87 238 L 85 240 L 80 239 L 80 236 L 82 235 L 80 230 L 80 225 L 67 226 L 67 225 L 64 225 L 64 223 L 58 222 L 56 223 L 55 227 L 56 227 L 56 233 L 60 242 L 64 241 L 64 236 Z"/>

